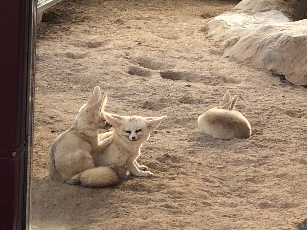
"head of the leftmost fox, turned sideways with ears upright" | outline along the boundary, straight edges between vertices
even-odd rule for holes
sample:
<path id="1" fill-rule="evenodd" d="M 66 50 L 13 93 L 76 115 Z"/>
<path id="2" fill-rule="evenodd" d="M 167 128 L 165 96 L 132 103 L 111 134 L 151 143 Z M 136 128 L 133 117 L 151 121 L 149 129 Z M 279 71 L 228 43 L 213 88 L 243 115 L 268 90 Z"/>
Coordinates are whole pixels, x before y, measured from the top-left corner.
<path id="1" fill-rule="evenodd" d="M 111 128 L 103 112 L 106 103 L 107 94 L 100 98 L 100 88 L 96 86 L 91 98 L 79 110 L 76 117 L 78 125 L 89 130 Z"/>

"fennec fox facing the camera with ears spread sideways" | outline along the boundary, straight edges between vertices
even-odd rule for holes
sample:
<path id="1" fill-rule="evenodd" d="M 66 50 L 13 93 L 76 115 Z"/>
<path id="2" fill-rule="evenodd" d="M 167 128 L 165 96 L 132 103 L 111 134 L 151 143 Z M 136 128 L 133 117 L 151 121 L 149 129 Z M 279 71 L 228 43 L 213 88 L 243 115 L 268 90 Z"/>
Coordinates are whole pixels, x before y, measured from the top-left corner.
<path id="1" fill-rule="evenodd" d="M 144 165 L 139 165 L 136 161 L 140 155 L 140 149 L 144 141 L 148 140 L 153 129 L 157 128 L 163 117 L 139 117 L 139 116 L 119 116 L 105 113 L 107 122 L 112 125 L 111 137 L 113 142 L 95 158 L 96 166 L 110 166 L 118 173 L 120 178 L 125 178 L 129 172 L 135 176 L 151 176 L 153 173 L 143 171 L 148 169 Z M 105 138 L 103 133 L 100 140 Z"/>

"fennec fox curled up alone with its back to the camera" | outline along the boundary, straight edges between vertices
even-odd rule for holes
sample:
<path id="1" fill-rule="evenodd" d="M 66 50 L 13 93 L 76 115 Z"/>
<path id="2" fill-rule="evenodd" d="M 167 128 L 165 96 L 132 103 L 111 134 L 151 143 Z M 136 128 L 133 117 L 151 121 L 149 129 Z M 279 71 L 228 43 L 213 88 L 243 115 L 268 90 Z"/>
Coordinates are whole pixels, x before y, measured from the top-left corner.
<path id="1" fill-rule="evenodd" d="M 227 91 L 219 106 L 209 109 L 198 118 L 200 132 L 225 140 L 251 136 L 250 123 L 240 112 L 234 110 L 237 95 L 231 100 L 230 98 Z"/>

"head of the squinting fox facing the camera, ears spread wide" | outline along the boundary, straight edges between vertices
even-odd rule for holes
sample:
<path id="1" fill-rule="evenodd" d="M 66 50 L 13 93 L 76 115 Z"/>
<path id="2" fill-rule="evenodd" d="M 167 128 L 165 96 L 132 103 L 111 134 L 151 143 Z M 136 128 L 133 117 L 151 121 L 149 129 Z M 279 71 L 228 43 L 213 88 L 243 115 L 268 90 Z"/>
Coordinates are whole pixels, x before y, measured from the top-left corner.
<path id="1" fill-rule="evenodd" d="M 116 114 L 105 113 L 107 122 L 113 127 L 113 132 L 119 135 L 123 140 L 130 142 L 146 141 L 153 129 L 157 128 L 163 117 L 139 117 L 139 116 L 119 116 Z"/>

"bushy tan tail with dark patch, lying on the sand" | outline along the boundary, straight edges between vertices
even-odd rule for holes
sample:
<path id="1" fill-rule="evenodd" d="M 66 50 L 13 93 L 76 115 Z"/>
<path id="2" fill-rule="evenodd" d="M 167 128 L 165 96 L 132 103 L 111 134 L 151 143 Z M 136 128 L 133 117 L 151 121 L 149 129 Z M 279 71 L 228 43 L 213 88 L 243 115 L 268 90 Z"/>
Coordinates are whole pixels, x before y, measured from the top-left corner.
<path id="1" fill-rule="evenodd" d="M 100 166 L 87 169 L 72 176 L 68 184 L 82 185 L 83 187 L 103 188 L 119 184 L 119 176 L 110 167 Z"/>

